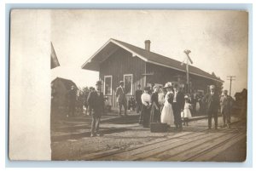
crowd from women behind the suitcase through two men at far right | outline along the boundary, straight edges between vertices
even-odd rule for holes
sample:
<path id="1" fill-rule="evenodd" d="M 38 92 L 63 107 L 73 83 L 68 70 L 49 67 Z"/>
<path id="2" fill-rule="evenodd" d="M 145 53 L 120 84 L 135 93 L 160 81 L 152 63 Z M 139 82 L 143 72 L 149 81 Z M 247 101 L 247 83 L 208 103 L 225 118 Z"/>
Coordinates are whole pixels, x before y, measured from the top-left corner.
<path id="1" fill-rule="evenodd" d="M 210 86 L 210 93 L 201 97 L 200 106 L 198 100 L 195 103 L 196 98 L 191 97 L 193 94 L 184 94 L 183 89 L 179 88 L 176 83 L 166 83 L 165 87 L 155 85 L 152 93 L 149 87 L 144 88 L 142 92 L 139 85 L 136 92 L 137 112 L 140 113 L 139 123 L 144 128 L 149 128 L 151 123 L 166 123 L 169 127 L 173 126 L 177 130 L 182 130 L 183 125 L 189 125 L 192 112 L 200 111 L 204 105 L 209 129 L 212 128 L 212 117 L 214 128 L 218 128 L 219 109 L 223 116 L 223 127 L 230 128 L 232 98 L 227 90 L 219 96 L 215 89 L 214 85 Z"/>

